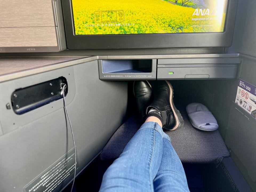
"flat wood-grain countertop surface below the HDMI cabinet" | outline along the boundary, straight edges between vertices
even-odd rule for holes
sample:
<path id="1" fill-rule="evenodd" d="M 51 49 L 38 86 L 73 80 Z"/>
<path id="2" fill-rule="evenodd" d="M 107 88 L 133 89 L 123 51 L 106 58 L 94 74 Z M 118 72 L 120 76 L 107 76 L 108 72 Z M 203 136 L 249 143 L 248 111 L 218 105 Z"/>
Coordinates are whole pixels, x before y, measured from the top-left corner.
<path id="1" fill-rule="evenodd" d="M 0 76 L 83 57 L 85 56 L 0 57 Z"/>

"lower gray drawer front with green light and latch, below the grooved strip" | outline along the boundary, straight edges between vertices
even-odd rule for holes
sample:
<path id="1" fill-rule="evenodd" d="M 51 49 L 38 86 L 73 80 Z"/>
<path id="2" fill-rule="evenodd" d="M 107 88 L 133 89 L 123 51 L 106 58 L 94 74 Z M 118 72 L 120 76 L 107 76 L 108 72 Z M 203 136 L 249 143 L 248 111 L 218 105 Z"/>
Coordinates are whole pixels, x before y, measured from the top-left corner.
<path id="1" fill-rule="evenodd" d="M 157 69 L 158 80 L 207 79 L 207 75 L 209 75 L 209 79 L 231 79 L 235 78 L 236 74 L 237 67 L 166 67 Z"/>

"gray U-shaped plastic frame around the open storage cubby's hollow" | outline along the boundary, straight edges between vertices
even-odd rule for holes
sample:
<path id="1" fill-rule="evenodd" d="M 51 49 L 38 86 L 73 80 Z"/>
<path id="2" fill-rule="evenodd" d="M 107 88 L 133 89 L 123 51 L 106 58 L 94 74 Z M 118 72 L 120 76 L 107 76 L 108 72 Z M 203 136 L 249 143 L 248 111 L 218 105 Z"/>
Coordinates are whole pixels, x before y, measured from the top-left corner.
<path id="1" fill-rule="evenodd" d="M 115 60 L 116 61 L 116 60 Z M 124 61 L 125 60 L 121 60 Z M 157 60 L 152 59 L 152 72 L 151 73 L 103 73 L 102 60 L 98 60 L 99 63 L 99 79 L 101 80 L 144 80 L 156 79 Z"/>

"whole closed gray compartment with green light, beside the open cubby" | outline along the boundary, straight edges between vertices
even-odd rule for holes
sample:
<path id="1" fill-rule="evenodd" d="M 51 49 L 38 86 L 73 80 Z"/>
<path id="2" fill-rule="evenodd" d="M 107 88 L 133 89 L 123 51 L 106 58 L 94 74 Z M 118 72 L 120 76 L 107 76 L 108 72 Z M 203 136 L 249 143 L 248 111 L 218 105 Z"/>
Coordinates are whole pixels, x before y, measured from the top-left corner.
<path id="1" fill-rule="evenodd" d="M 157 79 L 232 79 L 239 58 L 158 59 Z"/>

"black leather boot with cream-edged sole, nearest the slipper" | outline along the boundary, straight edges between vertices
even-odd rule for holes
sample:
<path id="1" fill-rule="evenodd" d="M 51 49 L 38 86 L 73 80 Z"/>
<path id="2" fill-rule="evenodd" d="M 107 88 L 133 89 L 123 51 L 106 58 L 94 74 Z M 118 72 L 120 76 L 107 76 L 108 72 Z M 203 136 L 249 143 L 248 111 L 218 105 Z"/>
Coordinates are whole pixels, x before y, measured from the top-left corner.
<path id="1" fill-rule="evenodd" d="M 153 88 L 154 101 L 147 107 L 146 114 L 151 108 L 162 115 L 164 129 L 175 130 L 184 125 L 183 118 L 173 104 L 173 87 L 168 81 L 150 81 Z"/>

